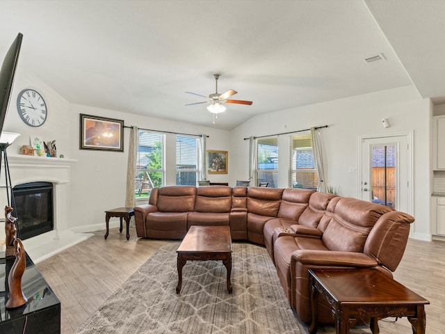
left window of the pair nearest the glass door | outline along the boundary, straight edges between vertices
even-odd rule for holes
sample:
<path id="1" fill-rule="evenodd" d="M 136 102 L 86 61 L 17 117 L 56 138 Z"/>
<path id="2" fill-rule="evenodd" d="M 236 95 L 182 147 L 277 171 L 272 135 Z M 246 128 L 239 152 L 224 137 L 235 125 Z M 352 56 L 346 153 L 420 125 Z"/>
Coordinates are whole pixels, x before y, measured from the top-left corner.
<path id="1" fill-rule="evenodd" d="M 257 170 L 252 186 L 269 182 L 269 188 L 278 184 L 278 137 L 257 139 Z"/>

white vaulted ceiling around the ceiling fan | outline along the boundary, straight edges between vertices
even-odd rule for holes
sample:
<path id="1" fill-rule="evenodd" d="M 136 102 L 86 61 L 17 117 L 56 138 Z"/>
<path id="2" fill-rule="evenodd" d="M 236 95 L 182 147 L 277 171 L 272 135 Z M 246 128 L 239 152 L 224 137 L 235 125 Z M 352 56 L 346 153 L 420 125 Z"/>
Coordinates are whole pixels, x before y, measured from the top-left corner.
<path id="1" fill-rule="evenodd" d="M 249 118 L 414 84 L 445 103 L 445 1 L 0 1 L 0 56 L 67 101 L 233 129 Z M 382 61 L 365 58 L 381 54 Z M 215 125 L 207 104 L 227 104 Z M 50 106 L 49 106 L 50 107 Z"/>

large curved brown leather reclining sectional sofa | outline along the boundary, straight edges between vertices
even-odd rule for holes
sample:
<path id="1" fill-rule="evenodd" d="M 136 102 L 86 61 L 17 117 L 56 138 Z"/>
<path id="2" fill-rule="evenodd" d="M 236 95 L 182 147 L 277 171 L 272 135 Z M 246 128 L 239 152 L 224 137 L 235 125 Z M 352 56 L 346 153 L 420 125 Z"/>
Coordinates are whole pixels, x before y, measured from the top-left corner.
<path id="1" fill-rule="evenodd" d="M 229 225 L 232 239 L 266 246 L 289 303 L 307 323 L 307 269 L 375 267 L 392 276 L 414 221 L 355 198 L 243 186 L 163 186 L 134 212 L 138 237 L 182 239 L 191 225 Z M 318 321 L 333 322 L 324 301 Z"/>

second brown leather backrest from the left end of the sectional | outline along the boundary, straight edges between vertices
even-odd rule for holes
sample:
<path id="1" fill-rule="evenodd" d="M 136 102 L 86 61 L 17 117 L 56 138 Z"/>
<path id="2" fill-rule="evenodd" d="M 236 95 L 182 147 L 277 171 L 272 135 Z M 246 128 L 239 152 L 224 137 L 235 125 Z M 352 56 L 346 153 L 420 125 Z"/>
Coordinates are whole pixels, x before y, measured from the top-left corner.
<path id="1" fill-rule="evenodd" d="M 230 212 L 232 188 L 229 186 L 200 186 L 196 190 L 195 212 Z"/>

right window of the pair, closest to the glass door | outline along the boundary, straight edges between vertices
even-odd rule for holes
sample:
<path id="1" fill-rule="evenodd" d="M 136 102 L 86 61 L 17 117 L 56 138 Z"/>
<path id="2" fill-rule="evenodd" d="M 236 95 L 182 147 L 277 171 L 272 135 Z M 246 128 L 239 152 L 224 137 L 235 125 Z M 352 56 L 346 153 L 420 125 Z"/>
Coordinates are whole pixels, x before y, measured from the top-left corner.
<path id="1" fill-rule="evenodd" d="M 291 136 L 289 187 L 317 189 L 318 175 L 312 154 L 311 134 Z"/>

